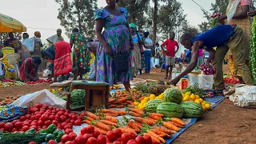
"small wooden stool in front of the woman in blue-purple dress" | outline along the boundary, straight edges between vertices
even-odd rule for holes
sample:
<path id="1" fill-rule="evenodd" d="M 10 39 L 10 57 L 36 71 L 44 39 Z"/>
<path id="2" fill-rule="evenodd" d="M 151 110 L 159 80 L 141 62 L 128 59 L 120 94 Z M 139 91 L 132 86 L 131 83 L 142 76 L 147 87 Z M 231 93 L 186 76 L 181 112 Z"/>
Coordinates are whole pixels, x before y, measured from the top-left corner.
<path id="1" fill-rule="evenodd" d="M 91 81 L 72 81 L 70 83 L 70 94 L 74 89 L 86 90 L 85 110 L 90 107 L 108 106 L 110 96 L 110 85 L 106 82 L 91 82 Z M 70 110 L 70 94 L 66 99 L 66 110 Z"/>

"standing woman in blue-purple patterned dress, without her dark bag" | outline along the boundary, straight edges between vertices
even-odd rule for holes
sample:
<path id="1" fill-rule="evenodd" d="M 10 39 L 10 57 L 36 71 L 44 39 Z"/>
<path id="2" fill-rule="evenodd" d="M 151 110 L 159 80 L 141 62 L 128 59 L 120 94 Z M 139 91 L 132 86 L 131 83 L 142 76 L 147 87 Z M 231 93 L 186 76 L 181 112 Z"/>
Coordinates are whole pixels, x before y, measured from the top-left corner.
<path id="1" fill-rule="evenodd" d="M 116 82 L 122 82 L 126 90 L 129 90 L 130 79 L 132 79 L 130 60 L 126 72 L 116 72 L 113 69 L 112 58 L 114 54 L 130 54 L 130 49 L 133 48 L 127 22 L 128 11 L 126 8 L 116 6 L 116 0 L 106 0 L 106 3 L 107 6 L 102 10 L 97 10 L 94 15 L 96 35 L 100 42 L 96 52 L 98 67 L 96 81 L 108 82 L 111 86 Z"/>

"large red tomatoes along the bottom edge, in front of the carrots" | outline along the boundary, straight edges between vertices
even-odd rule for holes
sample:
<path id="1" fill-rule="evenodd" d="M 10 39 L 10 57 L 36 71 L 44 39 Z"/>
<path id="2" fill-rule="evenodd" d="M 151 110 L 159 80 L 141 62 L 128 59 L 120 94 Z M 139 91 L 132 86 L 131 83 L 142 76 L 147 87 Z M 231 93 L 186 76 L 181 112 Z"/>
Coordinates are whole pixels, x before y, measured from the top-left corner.
<path id="1" fill-rule="evenodd" d="M 65 130 L 65 135 L 59 144 L 152 144 L 150 136 L 138 136 L 133 133 L 124 133 L 118 128 L 109 131 L 106 136 L 94 130 L 94 126 L 87 126 L 80 130 L 77 136 L 73 130 Z"/>

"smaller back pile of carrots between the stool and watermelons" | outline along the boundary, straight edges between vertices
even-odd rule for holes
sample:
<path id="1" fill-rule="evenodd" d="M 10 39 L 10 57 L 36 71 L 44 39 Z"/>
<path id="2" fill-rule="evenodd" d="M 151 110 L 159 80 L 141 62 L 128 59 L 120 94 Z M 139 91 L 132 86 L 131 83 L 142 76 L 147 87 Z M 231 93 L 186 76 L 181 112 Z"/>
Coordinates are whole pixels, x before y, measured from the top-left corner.
<path id="1" fill-rule="evenodd" d="M 109 108 L 134 107 L 134 102 L 142 97 L 141 94 L 134 93 L 133 90 L 129 92 L 126 90 L 117 90 L 115 95 L 109 98 Z"/>

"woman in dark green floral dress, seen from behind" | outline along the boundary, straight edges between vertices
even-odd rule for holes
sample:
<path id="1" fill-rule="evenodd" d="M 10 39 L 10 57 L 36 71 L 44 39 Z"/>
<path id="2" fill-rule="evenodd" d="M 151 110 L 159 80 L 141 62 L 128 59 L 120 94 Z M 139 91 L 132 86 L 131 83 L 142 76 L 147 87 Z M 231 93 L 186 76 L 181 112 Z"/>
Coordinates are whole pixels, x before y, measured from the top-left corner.
<path id="1" fill-rule="evenodd" d="M 73 72 L 74 80 L 77 80 L 78 74 L 80 80 L 85 70 L 90 70 L 90 53 L 86 46 L 86 38 L 79 33 L 78 28 L 74 28 L 70 36 L 70 46 L 74 45 L 73 50 Z"/>

